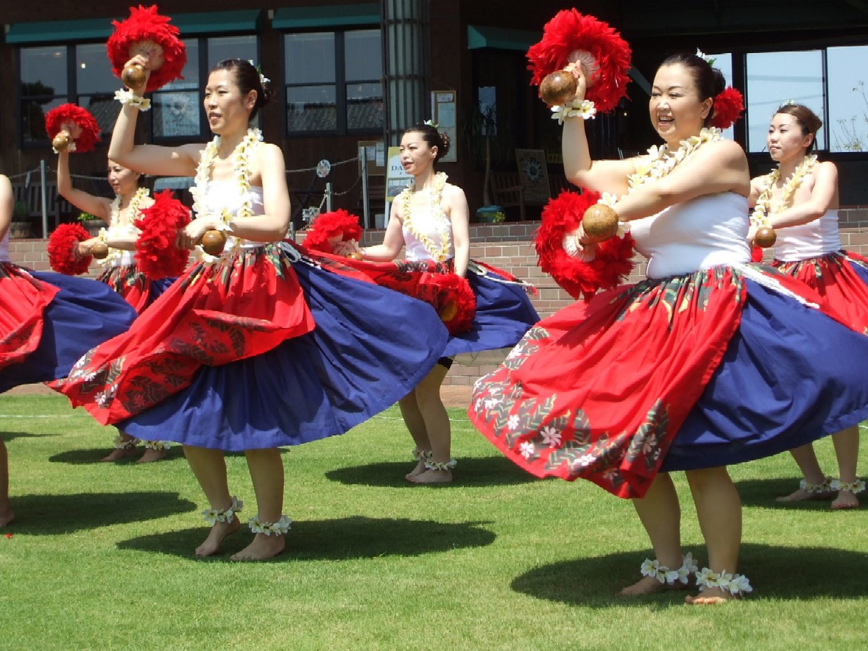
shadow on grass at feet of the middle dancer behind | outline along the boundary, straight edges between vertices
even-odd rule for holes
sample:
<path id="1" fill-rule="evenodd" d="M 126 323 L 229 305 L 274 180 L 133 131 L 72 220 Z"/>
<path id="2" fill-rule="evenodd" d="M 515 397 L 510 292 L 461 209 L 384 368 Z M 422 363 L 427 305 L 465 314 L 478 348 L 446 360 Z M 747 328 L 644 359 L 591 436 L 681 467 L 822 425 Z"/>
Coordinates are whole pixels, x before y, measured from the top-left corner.
<path id="1" fill-rule="evenodd" d="M 388 486 L 391 488 L 405 486 L 415 488 L 416 484 L 408 482 L 404 476 L 413 470 L 415 462 L 408 459 L 405 463 L 383 462 L 381 464 L 365 464 L 347 466 L 337 470 L 329 470 L 325 477 L 333 482 L 363 486 Z M 506 457 L 461 458 L 452 470 L 452 483 L 436 484 L 437 488 L 456 486 L 510 486 L 512 484 L 540 481 L 528 472 L 513 464 Z"/>

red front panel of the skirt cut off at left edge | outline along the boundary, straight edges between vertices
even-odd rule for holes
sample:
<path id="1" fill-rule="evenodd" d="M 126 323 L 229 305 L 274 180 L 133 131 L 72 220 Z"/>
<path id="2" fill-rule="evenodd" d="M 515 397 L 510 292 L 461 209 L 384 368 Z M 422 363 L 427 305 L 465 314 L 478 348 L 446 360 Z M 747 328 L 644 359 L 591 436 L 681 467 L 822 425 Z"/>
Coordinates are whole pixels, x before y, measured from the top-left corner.
<path id="1" fill-rule="evenodd" d="M 58 291 L 26 269 L 0 262 L 0 368 L 36 350 L 43 336 L 43 312 Z"/>

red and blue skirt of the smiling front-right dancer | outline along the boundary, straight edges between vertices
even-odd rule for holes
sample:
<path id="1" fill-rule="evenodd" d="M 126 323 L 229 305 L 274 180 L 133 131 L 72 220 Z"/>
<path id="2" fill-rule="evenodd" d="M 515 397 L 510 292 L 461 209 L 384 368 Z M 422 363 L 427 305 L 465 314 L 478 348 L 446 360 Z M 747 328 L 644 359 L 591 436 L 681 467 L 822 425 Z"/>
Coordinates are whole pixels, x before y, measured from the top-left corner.
<path id="1" fill-rule="evenodd" d="M 474 386 L 485 437 L 537 477 L 641 497 L 659 471 L 736 464 L 868 418 L 868 338 L 769 266 L 596 294 Z"/>

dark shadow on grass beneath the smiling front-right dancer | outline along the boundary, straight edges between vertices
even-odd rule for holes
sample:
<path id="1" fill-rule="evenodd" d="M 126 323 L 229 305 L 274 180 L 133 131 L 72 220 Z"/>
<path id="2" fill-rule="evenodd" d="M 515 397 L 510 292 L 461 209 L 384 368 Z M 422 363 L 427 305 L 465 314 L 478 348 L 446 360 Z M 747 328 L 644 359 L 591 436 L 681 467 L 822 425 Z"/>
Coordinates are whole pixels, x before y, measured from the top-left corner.
<path id="1" fill-rule="evenodd" d="M 688 549 L 689 550 L 689 549 Z M 696 553 L 694 549 L 694 555 Z M 688 590 L 673 590 L 642 597 L 618 597 L 618 590 L 638 581 L 639 565 L 650 551 L 627 552 L 542 565 L 519 575 L 512 589 L 549 602 L 574 606 L 611 608 L 681 606 Z M 700 568 L 704 559 L 700 551 Z M 868 554 L 845 549 L 779 547 L 744 544 L 739 571 L 753 586 L 753 595 L 764 599 L 865 598 Z M 750 597 L 748 597 L 750 598 Z"/>

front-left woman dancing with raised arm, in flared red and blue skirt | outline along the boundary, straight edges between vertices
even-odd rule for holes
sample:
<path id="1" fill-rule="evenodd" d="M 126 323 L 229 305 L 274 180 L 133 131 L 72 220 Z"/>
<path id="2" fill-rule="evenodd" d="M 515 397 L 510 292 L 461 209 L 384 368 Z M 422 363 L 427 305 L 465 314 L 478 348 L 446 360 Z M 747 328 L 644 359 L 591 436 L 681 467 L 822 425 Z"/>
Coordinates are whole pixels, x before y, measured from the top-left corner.
<path id="1" fill-rule="evenodd" d="M 343 433 L 394 404 L 437 361 L 445 328 L 430 306 L 347 279 L 283 242 L 289 225 L 286 164 L 250 128 L 271 93 L 253 64 L 219 62 L 207 79 L 207 144 L 135 145 L 145 81 L 123 95 L 109 158 L 147 174 L 193 176 L 196 219 L 179 233 L 203 253 L 135 325 L 82 358 L 63 392 L 102 423 L 135 437 L 159 432 L 184 445 L 212 529 L 196 549 L 210 556 L 240 528 L 242 502 L 227 483 L 224 452 L 243 450 L 258 512 L 255 534 L 233 560 L 285 548 L 279 446 Z M 320 266 L 320 265 L 323 266 Z M 390 310 L 378 306 L 388 300 Z M 395 323 L 412 324 L 396 332 Z"/>

